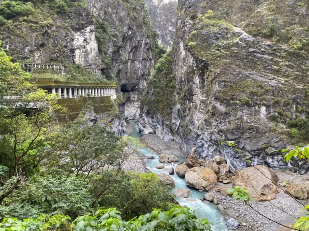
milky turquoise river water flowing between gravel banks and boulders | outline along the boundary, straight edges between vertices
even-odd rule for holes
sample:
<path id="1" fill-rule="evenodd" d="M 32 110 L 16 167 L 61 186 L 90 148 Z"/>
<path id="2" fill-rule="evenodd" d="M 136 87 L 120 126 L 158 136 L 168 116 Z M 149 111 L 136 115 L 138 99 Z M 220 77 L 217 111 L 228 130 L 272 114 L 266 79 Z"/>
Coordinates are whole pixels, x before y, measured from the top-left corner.
<path id="1" fill-rule="evenodd" d="M 130 133 L 131 136 L 135 137 L 135 138 L 139 138 L 140 137 L 140 132 L 138 130 L 138 127 L 135 123 L 135 120 L 131 120 L 130 123 L 134 126 L 134 131 L 132 133 Z M 158 154 L 155 153 L 154 151 L 150 150 L 147 147 L 143 147 L 141 149 L 139 149 L 139 152 L 142 155 L 145 155 L 145 164 L 146 167 L 155 173 L 166 173 L 168 174 L 169 169 L 171 167 L 175 167 L 177 166 L 177 163 L 172 163 L 172 164 L 165 164 L 165 167 L 163 169 L 156 169 L 155 166 L 157 166 L 158 164 L 162 164 L 159 162 L 158 159 Z M 150 156 L 154 156 L 154 159 L 146 159 L 147 157 Z M 178 157 L 179 162 L 183 162 L 185 160 L 184 157 Z M 175 188 L 187 188 L 184 179 L 178 177 L 175 174 L 170 175 L 171 178 L 173 178 L 173 180 L 175 181 Z M 173 188 L 172 190 L 174 190 L 175 188 Z M 191 192 L 191 196 L 190 198 L 195 199 L 196 201 L 187 201 L 185 198 L 184 199 L 177 199 L 179 201 L 180 205 L 186 205 L 187 207 L 191 208 L 196 214 L 198 218 L 206 218 L 208 221 L 210 221 L 212 224 L 214 224 L 213 226 L 213 230 L 214 231 L 226 231 L 226 223 L 224 221 L 223 215 L 222 213 L 216 208 L 216 206 L 213 203 L 210 204 L 205 204 L 204 202 L 202 202 L 200 200 L 201 197 L 203 197 L 205 195 L 205 192 L 199 192 L 196 189 L 193 188 L 188 188 Z"/>

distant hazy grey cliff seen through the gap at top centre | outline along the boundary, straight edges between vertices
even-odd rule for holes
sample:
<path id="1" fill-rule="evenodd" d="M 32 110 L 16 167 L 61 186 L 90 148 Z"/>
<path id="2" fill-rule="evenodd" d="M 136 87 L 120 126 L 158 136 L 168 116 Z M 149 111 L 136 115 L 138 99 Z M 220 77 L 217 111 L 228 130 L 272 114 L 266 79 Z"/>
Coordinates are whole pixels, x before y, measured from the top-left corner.
<path id="1" fill-rule="evenodd" d="M 159 43 L 171 47 L 176 27 L 176 0 L 145 0 L 153 28 L 159 32 Z"/>

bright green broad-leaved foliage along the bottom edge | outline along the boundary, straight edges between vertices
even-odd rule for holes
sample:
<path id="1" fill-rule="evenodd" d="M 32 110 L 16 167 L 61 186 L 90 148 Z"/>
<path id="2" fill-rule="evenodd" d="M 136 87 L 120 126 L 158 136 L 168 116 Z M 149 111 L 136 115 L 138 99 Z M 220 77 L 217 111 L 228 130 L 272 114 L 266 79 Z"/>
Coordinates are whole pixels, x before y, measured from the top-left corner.
<path id="1" fill-rule="evenodd" d="M 115 208 L 98 210 L 94 216 L 84 215 L 76 218 L 72 223 L 70 217 L 54 215 L 52 217 L 41 215 L 37 218 L 24 219 L 6 218 L 0 223 L 1 231 L 11 230 L 77 230 L 77 231 L 207 231 L 210 224 L 207 220 L 197 221 L 197 217 L 190 208 L 174 207 L 170 211 L 162 212 L 154 209 L 138 218 L 124 221 L 121 213 Z"/>

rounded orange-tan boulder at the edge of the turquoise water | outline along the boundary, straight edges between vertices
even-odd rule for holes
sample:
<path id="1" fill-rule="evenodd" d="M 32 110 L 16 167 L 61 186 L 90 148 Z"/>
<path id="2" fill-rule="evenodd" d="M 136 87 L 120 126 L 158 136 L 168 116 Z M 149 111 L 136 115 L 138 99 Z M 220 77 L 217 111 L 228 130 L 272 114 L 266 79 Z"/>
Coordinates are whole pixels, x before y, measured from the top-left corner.
<path id="1" fill-rule="evenodd" d="M 208 191 L 214 188 L 217 176 L 210 168 L 194 167 L 187 171 L 184 181 L 188 187 Z"/>

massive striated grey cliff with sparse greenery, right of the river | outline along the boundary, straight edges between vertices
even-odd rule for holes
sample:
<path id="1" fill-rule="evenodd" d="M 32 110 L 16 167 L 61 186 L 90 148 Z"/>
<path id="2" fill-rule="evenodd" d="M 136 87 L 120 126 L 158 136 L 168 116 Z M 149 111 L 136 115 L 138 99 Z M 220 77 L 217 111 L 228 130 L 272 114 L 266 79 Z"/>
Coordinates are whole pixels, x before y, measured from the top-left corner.
<path id="1" fill-rule="evenodd" d="M 140 130 L 175 140 L 187 155 L 194 146 L 199 158 L 224 155 L 232 171 L 248 165 L 242 153 L 287 168 L 272 151 L 309 138 L 308 9 L 296 0 L 179 0 L 171 59 L 152 73 Z"/>

